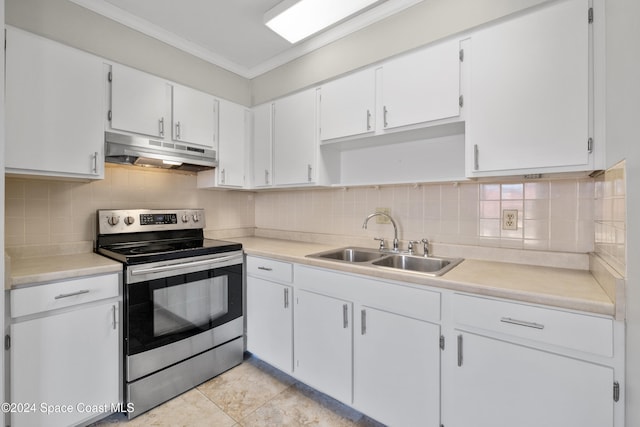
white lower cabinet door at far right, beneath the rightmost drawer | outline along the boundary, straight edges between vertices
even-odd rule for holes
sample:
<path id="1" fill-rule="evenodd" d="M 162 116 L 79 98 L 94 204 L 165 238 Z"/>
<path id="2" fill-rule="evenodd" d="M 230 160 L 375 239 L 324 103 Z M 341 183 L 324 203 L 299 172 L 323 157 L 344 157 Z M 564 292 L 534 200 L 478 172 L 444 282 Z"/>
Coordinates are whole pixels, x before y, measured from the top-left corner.
<path id="1" fill-rule="evenodd" d="M 613 369 L 458 333 L 451 427 L 613 425 Z M 460 408 L 464 408 L 461 410 Z"/>

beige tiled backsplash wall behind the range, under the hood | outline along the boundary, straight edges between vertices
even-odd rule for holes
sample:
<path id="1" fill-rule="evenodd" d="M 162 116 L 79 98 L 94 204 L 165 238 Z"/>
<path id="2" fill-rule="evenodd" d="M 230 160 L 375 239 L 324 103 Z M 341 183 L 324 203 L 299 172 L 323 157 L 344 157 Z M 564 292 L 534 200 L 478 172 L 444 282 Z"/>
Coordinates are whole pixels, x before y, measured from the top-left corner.
<path id="1" fill-rule="evenodd" d="M 97 209 L 184 207 L 206 209 L 207 230 L 221 238 L 253 233 L 253 193 L 197 190 L 195 175 L 108 165 L 94 182 L 7 178 L 5 244 L 92 241 Z"/>

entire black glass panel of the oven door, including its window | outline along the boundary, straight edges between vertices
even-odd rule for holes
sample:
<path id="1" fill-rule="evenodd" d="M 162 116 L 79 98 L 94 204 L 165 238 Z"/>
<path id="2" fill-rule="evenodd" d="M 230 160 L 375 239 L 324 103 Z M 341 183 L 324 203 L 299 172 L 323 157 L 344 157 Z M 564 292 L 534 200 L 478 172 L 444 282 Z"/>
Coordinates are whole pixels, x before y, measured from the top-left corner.
<path id="1" fill-rule="evenodd" d="M 125 346 L 131 356 L 242 316 L 242 264 L 128 284 Z"/>

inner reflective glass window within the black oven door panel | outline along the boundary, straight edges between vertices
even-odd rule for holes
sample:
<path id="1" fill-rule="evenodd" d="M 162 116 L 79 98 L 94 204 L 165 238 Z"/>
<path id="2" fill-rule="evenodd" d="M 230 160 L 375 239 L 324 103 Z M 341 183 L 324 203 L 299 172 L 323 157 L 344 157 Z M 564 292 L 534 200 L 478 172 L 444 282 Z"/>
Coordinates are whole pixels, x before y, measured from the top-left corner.
<path id="1" fill-rule="evenodd" d="M 227 276 L 153 290 L 153 335 L 207 325 L 228 312 Z"/>

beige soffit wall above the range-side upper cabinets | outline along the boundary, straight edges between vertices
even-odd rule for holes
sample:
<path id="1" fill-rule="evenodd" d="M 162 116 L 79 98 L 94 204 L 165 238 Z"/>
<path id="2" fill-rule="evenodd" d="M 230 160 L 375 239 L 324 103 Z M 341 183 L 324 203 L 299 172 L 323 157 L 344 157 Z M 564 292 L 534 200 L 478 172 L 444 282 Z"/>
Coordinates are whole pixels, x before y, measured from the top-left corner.
<path id="1" fill-rule="evenodd" d="M 242 105 L 243 77 L 66 0 L 7 0 L 6 23 Z"/>

